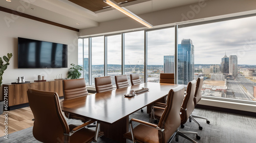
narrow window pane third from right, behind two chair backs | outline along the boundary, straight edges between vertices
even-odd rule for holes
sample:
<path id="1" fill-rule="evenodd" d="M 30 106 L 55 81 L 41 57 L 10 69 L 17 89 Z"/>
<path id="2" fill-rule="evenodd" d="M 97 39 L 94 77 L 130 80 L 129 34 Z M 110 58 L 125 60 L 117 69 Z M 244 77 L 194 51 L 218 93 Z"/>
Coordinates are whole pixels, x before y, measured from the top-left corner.
<path id="1" fill-rule="evenodd" d="M 124 34 L 125 75 L 130 82 L 131 74 L 139 74 L 144 82 L 144 31 Z"/>

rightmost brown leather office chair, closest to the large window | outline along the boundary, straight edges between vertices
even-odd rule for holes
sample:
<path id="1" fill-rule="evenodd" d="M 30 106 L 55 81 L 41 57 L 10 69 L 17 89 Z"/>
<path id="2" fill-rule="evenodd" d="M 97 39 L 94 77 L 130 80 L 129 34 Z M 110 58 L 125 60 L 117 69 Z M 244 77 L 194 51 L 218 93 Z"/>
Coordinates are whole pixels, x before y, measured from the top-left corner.
<path id="1" fill-rule="evenodd" d="M 194 97 L 194 104 L 195 104 L 195 107 L 196 107 L 197 103 L 202 99 L 201 90 L 202 90 L 203 84 L 204 84 L 204 77 L 199 77 L 199 78 L 197 79 L 197 87 L 196 87 L 196 92 L 195 92 L 195 97 Z M 204 119 L 204 120 L 206 120 L 206 123 L 207 123 L 207 124 L 210 124 L 210 121 L 208 120 L 208 118 L 202 117 L 202 116 L 198 116 L 198 115 L 190 114 L 190 116 L 189 116 L 189 122 L 191 122 L 191 120 L 193 120 L 194 122 L 196 122 L 196 123 L 198 124 L 200 130 L 202 130 L 203 127 L 201 127 L 201 125 L 195 120 L 195 118 Z"/>

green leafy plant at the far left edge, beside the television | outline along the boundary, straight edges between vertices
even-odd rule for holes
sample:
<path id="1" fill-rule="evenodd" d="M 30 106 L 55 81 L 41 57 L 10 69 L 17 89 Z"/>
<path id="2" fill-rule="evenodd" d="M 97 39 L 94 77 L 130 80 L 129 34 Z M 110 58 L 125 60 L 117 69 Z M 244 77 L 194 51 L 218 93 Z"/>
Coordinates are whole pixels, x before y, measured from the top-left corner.
<path id="1" fill-rule="evenodd" d="M 8 53 L 7 57 L 6 56 L 3 57 L 6 64 L 4 64 L 3 59 L 0 57 L 0 87 L 3 82 L 3 74 L 4 74 L 5 70 L 7 69 L 7 66 L 10 64 L 9 61 L 10 61 L 11 57 L 12 57 L 12 53 Z M 4 110 L 4 101 L 0 100 L 0 114 L 3 113 L 3 110 Z"/>

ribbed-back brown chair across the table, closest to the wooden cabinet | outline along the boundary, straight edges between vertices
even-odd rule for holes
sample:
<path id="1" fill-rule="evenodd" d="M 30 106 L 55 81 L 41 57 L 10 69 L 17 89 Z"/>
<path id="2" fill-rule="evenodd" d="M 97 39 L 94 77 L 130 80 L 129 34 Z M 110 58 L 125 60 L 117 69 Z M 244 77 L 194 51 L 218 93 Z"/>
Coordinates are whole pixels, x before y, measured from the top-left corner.
<path id="1" fill-rule="evenodd" d="M 63 80 L 62 83 L 63 83 L 64 100 L 69 100 L 72 98 L 89 95 L 86 87 L 86 81 L 84 79 Z M 67 118 L 80 120 L 83 123 L 86 123 L 91 120 L 88 117 L 84 117 L 84 116 L 69 113 L 69 112 L 64 112 L 64 114 Z"/>

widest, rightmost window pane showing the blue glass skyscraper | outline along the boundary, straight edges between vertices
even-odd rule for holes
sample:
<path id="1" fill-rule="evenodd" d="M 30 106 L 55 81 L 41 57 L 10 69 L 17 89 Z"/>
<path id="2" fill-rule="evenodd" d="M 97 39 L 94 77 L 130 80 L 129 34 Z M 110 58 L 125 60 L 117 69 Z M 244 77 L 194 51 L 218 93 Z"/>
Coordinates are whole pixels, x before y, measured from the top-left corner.
<path id="1" fill-rule="evenodd" d="M 180 28 L 178 83 L 203 76 L 203 96 L 255 101 L 254 23 L 255 16 Z"/>

